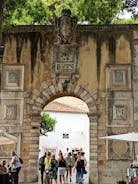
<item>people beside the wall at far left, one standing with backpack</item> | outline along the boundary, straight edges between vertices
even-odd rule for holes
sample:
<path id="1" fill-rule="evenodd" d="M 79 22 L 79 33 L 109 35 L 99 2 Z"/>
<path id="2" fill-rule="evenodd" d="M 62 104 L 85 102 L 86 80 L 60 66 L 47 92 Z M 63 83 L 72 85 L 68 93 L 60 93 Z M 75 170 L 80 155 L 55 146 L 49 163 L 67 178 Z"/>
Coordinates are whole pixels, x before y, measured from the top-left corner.
<path id="1" fill-rule="evenodd" d="M 16 154 L 15 151 L 12 151 L 12 158 L 10 163 L 7 165 L 6 161 L 3 160 L 0 164 L 0 174 L 11 174 L 12 180 L 11 183 L 19 183 L 19 172 L 21 170 L 21 160 L 20 157 Z M 4 184 L 4 183 L 2 183 Z"/>

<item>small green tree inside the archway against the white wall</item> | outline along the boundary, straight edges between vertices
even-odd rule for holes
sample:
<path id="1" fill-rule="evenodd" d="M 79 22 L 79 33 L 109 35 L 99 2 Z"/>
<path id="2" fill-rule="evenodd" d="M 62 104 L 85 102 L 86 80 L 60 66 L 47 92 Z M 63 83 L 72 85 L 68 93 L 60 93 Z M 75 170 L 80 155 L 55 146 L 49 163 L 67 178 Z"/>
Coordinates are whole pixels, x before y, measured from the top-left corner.
<path id="1" fill-rule="evenodd" d="M 42 135 L 47 135 L 48 132 L 52 132 L 56 123 L 57 121 L 51 118 L 48 113 L 42 112 L 40 133 Z"/>

